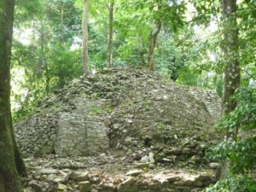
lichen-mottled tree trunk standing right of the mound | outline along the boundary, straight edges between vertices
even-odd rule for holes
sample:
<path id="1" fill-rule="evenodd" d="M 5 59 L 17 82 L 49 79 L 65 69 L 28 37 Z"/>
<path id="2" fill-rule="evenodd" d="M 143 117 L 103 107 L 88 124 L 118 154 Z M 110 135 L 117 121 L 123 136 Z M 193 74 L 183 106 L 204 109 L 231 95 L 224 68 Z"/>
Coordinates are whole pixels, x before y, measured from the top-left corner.
<path id="1" fill-rule="evenodd" d="M 222 0 L 223 25 L 224 25 L 224 90 L 223 90 L 223 115 L 236 108 L 236 101 L 231 96 L 240 86 L 240 67 L 238 61 L 238 27 L 236 22 L 236 0 Z M 227 131 L 226 137 L 236 140 L 235 131 Z"/>

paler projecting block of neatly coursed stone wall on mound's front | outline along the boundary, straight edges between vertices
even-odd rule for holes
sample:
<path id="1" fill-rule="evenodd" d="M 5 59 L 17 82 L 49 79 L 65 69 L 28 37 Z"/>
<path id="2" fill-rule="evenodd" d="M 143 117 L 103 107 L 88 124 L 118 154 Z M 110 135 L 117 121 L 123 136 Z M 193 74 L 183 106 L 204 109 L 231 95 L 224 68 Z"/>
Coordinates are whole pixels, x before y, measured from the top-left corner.
<path id="1" fill-rule="evenodd" d="M 108 148 L 108 128 L 96 115 L 106 103 L 77 98 L 72 113 L 61 113 L 55 140 L 55 153 L 61 156 L 95 154 Z"/>

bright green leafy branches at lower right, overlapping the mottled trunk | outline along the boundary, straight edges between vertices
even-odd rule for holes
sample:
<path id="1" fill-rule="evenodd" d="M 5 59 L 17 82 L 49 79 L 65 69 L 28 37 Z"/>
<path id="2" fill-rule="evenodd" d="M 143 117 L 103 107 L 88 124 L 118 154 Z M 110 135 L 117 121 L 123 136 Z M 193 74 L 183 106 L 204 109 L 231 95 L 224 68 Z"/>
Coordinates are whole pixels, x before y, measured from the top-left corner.
<path id="1" fill-rule="evenodd" d="M 234 111 L 224 116 L 216 125 L 220 131 L 240 131 L 236 140 L 228 139 L 211 148 L 207 156 L 229 164 L 232 175 L 220 180 L 206 191 L 255 191 L 256 181 L 247 174 L 256 166 L 256 136 L 251 131 L 256 128 L 256 91 L 255 87 L 241 87 L 233 97 L 237 103 Z M 247 132 L 249 131 L 249 132 Z"/>

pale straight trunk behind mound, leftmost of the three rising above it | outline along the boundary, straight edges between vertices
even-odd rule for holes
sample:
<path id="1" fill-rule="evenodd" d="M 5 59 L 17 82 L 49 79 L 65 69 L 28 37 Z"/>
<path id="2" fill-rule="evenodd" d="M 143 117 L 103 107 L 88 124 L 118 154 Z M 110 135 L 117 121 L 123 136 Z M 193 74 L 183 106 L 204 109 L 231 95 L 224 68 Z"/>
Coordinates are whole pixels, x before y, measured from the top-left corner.
<path id="1" fill-rule="evenodd" d="M 83 36 L 83 50 L 82 50 L 82 65 L 83 73 L 89 73 L 89 58 L 88 58 L 88 46 L 89 46 L 89 0 L 84 0 L 83 16 L 82 16 L 82 36 Z"/>

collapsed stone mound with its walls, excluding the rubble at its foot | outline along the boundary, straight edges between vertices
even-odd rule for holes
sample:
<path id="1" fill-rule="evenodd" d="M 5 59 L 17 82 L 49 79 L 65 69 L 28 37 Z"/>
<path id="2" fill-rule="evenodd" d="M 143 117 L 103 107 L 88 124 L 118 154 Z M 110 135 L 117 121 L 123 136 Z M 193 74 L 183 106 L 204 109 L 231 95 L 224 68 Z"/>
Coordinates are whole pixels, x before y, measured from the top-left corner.
<path id="1" fill-rule="evenodd" d="M 76 79 L 48 96 L 37 113 L 15 125 L 15 132 L 25 156 L 83 156 L 145 137 L 164 135 L 170 141 L 177 130 L 191 129 L 192 137 L 219 114 L 220 99 L 212 90 L 179 86 L 148 71 L 114 68 Z"/>

